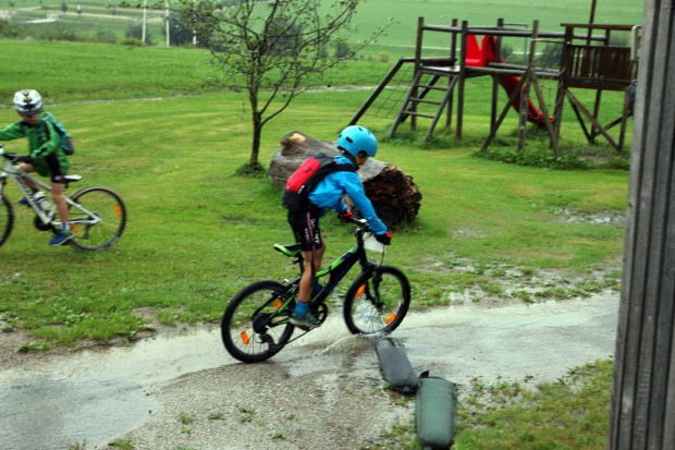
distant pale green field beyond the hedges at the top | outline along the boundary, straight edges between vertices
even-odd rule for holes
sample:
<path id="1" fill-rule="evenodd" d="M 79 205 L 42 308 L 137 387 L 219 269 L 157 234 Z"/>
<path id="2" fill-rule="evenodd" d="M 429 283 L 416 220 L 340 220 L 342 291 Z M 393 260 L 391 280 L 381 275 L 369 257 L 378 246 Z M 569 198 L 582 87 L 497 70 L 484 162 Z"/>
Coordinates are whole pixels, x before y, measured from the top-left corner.
<path id="1" fill-rule="evenodd" d="M 152 2 L 148 2 L 152 3 Z M 13 7 L 10 7 L 13 4 Z M 119 2 L 89 0 L 64 3 L 41 2 L 37 0 L 2 0 L 0 9 L 14 13 L 16 23 L 44 20 L 49 14 L 60 14 L 61 5 L 68 10 L 60 23 L 35 23 L 36 29 L 44 27 L 73 25 L 85 34 L 109 31 L 123 36 L 132 25 L 142 23 L 140 9 L 114 7 Z M 77 4 L 82 15 L 77 14 Z M 328 4 L 328 3 L 327 3 Z M 637 0 L 599 0 L 596 23 L 640 24 L 643 4 Z M 156 45 L 165 45 L 163 34 L 163 9 L 148 10 L 147 34 Z M 568 0 L 540 2 L 533 0 L 491 0 L 491 1 L 447 1 L 447 0 L 368 0 L 359 5 L 354 25 L 356 31 L 349 40 L 356 42 L 367 37 L 371 31 L 393 21 L 386 36 L 378 40 L 369 51 L 388 51 L 393 57 L 412 56 L 416 38 L 417 17 L 424 16 L 426 23 L 450 24 L 453 19 L 468 21 L 469 25 L 494 25 L 502 17 L 506 23 L 531 27 L 538 20 L 541 29 L 562 31 L 561 23 L 588 23 L 590 1 Z M 431 37 L 427 46 L 446 47 L 443 36 Z"/>

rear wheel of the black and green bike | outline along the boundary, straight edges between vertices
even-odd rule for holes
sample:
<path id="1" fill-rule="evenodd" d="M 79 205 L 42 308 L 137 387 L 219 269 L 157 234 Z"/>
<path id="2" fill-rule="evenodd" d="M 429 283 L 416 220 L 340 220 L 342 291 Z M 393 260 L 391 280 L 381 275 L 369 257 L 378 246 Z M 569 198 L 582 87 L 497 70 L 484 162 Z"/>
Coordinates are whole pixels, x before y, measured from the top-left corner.
<path id="1" fill-rule="evenodd" d="M 220 325 L 228 353 L 243 363 L 259 363 L 284 348 L 295 328 L 289 321 L 291 306 L 279 312 L 279 300 L 285 292 L 282 283 L 265 280 L 232 297 Z"/>

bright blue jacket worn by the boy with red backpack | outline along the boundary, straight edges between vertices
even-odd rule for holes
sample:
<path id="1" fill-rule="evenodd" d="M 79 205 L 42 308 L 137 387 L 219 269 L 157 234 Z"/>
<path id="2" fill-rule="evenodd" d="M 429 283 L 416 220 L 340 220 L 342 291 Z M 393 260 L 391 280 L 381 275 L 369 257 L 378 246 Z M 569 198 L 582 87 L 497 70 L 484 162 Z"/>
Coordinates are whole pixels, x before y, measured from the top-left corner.
<path id="1" fill-rule="evenodd" d="M 340 155 L 335 157 L 340 165 L 354 163 L 346 157 Z M 366 196 L 364 184 L 356 172 L 333 172 L 326 175 L 323 180 L 309 193 L 309 202 L 319 208 L 331 208 L 338 214 L 346 212 L 347 205 L 342 200 L 342 196 L 347 194 L 359 210 L 364 219 L 368 221 L 375 234 L 386 233 L 386 226 L 380 220 L 372 204 Z"/>

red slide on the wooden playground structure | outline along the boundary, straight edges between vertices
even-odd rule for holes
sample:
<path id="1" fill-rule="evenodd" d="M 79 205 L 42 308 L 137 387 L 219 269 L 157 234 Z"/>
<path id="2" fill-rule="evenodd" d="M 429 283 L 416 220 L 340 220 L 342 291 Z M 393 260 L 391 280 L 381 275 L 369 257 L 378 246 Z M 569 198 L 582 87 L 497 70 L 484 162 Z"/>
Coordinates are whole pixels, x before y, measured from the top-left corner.
<path id="1" fill-rule="evenodd" d="M 467 52 L 466 52 L 466 65 L 474 68 L 484 68 L 489 62 L 493 62 L 496 60 L 495 58 L 495 48 L 496 48 L 496 39 L 494 36 L 484 35 L 480 42 L 480 48 L 478 47 L 478 40 L 476 39 L 476 35 L 467 35 Z M 503 59 L 500 58 L 500 62 L 504 62 Z M 498 81 L 500 85 L 511 98 L 514 89 L 520 83 L 520 78 L 515 75 L 498 75 Z M 517 94 L 512 102 L 513 108 L 518 111 L 520 109 L 520 94 Z M 529 100 L 527 105 L 527 121 L 543 125 L 545 122 L 545 118 L 532 100 Z M 553 121 L 553 118 L 549 118 L 549 121 Z"/>

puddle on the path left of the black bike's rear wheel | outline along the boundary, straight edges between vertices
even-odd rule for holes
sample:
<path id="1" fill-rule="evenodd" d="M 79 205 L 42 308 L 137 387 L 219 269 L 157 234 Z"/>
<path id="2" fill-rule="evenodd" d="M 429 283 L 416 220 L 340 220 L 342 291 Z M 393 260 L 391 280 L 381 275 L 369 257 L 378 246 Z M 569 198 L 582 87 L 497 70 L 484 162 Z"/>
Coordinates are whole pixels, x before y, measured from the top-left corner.
<path id="1" fill-rule="evenodd" d="M 232 363 L 216 331 L 154 338 L 0 372 L 0 449 L 107 443 L 152 410 L 148 386 Z"/>

